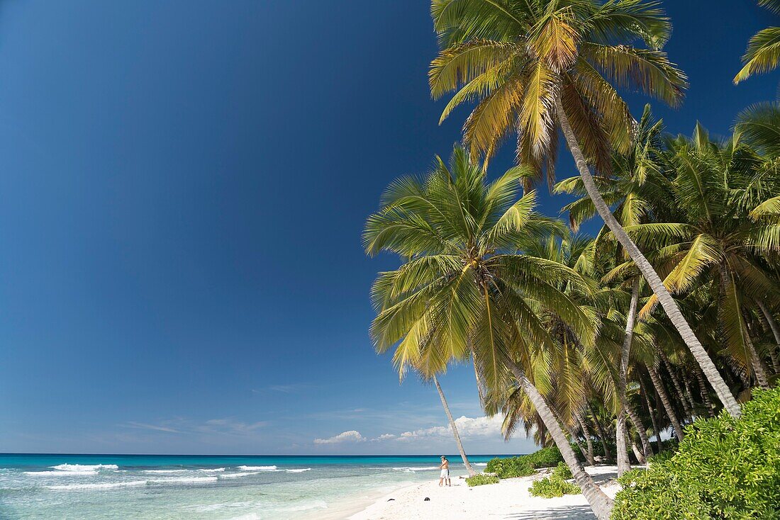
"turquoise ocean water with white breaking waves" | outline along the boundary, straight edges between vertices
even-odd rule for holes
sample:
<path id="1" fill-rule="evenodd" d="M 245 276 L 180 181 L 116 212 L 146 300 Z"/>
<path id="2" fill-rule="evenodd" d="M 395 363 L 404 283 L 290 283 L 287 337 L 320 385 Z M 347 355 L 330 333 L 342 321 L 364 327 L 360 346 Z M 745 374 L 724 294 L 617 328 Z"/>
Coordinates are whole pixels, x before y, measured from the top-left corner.
<path id="1" fill-rule="evenodd" d="M 470 457 L 484 466 L 493 455 Z M 465 469 L 449 456 L 452 476 Z M 438 457 L 0 455 L 0 518 L 318 518 L 438 479 Z"/>

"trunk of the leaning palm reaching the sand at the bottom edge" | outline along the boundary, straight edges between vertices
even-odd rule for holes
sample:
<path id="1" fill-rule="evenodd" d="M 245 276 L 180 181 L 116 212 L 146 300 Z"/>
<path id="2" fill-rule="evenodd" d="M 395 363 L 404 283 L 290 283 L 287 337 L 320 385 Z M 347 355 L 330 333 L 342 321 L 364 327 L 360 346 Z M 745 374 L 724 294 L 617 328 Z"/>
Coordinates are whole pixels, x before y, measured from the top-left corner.
<path id="1" fill-rule="evenodd" d="M 539 393 L 537 387 L 528 380 L 526 374 L 523 372 L 517 363 L 509 360 L 509 370 L 515 376 L 520 387 L 526 393 L 537 413 L 544 422 L 544 426 L 547 426 L 547 430 L 550 433 L 555 445 L 558 446 L 558 450 L 561 451 L 563 460 L 566 461 L 566 465 L 569 465 L 569 469 L 572 470 L 574 481 L 577 486 L 583 491 L 583 495 L 590 504 L 590 508 L 593 509 L 594 515 L 599 520 L 608 520 L 610 513 L 612 512 L 612 499 L 609 498 L 599 486 L 594 483 L 590 475 L 585 472 L 583 465 L 577 460 L 577 456 L 574 454 L 569 440 L 566 439 L 566 434 L 563 433 L 561 425 L 558 423 L 558 419 L 552 413 L 547 402 L 544 401 L 544 397 Z"/>

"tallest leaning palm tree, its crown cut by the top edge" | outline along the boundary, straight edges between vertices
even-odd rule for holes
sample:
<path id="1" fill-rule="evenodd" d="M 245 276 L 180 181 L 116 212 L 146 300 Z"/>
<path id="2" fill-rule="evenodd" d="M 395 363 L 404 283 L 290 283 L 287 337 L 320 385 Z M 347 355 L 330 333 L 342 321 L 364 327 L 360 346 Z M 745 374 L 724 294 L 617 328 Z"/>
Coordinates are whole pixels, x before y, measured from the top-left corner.
<path id="1" fill-rule="evenodd" d="M 431 94 L 457 90 L 441 118 L 477 100 L 463 126 L 471 153 L 488 159 L 516 133 L 519 164 L 534 168 L 537 179 L 546 168 L 550 184 L 560 128 L 598 214 L 658 295 L 725 408 L 739 416 L 729 387 L 590 173 L 590 164 L 608 172 L 612 148 L 626 150 L 632 139 L 633 119 L 616 88 L 642 90 L 672 105 L 683 98 L 686 76 L 659 50 L 672 26 L 658 3 L 432 0 L 431 13 L 441 45 L 429 72 Z"/>

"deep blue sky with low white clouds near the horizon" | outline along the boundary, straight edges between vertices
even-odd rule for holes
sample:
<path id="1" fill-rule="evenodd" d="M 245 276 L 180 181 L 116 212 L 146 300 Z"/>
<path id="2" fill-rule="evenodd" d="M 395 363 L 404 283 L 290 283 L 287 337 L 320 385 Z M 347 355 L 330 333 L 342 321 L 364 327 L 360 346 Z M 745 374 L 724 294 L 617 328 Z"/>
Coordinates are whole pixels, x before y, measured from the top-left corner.
<path id="1" fill-rule="evenodd" d="M 775 97 L 777 74 L 731 78 L 778 19 L 751 0 L 665 6 L 691 81 L 657 110 L 670 130 L 727 133 Z M 395 260 L 360 247 L 382 189 L 449 154 L 466 114 L 437 126 L 427 9 L 0 4 L 0 451 L 452 451 L 435 429 L 370 440 L 445 424 L 435 391 L 399 386 L 371 348 L 369 288 Z M 456 416 L 480 416 L 470 369 L 441 382 Z M 530 447 L 472 426 L 469 451 Z"/>

